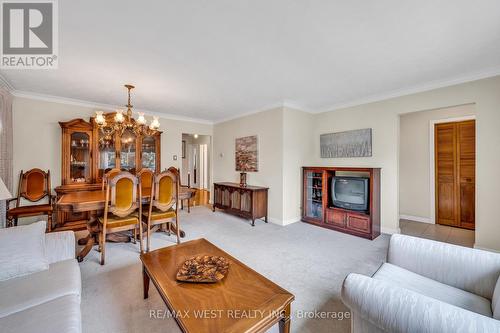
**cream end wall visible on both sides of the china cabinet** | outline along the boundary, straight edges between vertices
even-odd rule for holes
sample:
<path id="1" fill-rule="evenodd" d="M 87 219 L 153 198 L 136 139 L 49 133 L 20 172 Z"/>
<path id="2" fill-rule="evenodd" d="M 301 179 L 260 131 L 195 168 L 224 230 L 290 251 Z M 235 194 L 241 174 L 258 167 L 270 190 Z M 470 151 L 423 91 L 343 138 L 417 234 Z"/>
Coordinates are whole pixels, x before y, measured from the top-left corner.
<path id="1" fill-rule="evenodd" d="M 61 184 L 61 127 L 59 121 L 94 115 L 92 107 L 15 97 L 12 105 L 14 128 L 14 188 L 21 169 L 50 169 L 52 186 Z M 180 167 L 182 133 L 212 135 L 213 125 L 160 118 L 161 167 Z M 174 161 L 173 156 L 177 155 Z"/>

